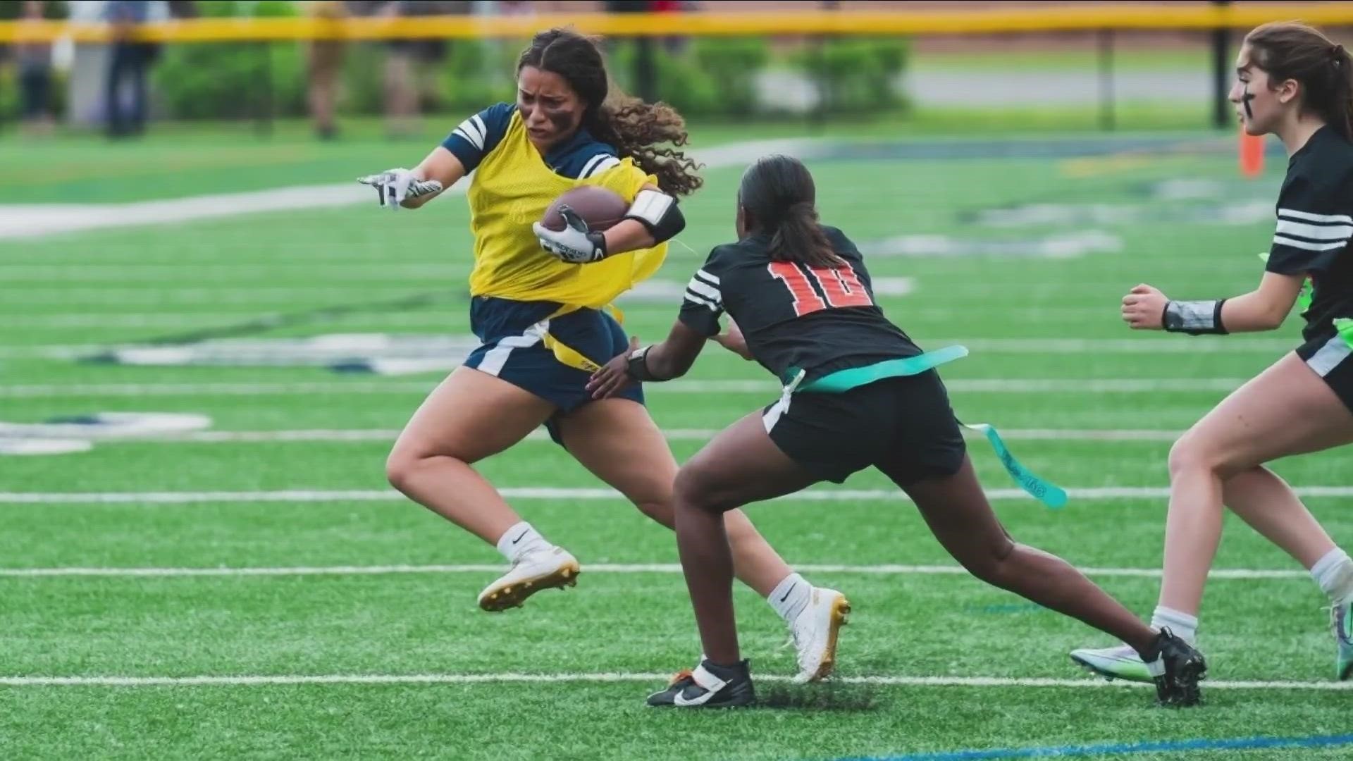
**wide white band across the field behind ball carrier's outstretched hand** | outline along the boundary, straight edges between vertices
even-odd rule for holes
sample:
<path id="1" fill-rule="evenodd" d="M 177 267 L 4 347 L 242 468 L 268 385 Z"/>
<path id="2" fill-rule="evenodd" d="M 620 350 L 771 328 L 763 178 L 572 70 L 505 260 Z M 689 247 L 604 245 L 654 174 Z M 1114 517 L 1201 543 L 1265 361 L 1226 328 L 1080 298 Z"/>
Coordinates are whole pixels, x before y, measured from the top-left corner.
<path id="1" fill-rule="evenodd" d="M 821 154 L 828 148 L 824 141 L 767 139 L 747 141 L 693 152 L 706 167 L 736 167 L 767 153 L 787 153 L 800 158 Z M 469 177 L 446 188 L 446 195 L 465 192 Z M 264 211 L 294 211 L 299 209 L 333 209 L 369 204 L 371 214 L 391 214 L 375 206 L 375 191 L 361 186 L 356 177 L 342 183 L 321 186 L 294 186 L 254 192 L 199 195 L 169 200 L 142 200 L 134 203 L 32 203 L 0 204 L 0 240 L 30 238 L 53 233 L 73 233 L 104 227 L 189 222 Z M 394 213 L 400 213 L 394 210 Z"/>

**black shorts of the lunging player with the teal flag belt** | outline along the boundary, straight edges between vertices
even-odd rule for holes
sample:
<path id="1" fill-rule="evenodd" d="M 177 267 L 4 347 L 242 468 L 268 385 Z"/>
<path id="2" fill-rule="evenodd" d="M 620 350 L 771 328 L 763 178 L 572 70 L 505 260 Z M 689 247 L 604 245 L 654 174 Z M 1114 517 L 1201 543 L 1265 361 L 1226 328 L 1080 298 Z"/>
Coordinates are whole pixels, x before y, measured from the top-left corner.
<path id="1" fill-rule="evenodd" d="M 844 394 L 797 393 L 762 412 L 771 441 L 819 481 L 840 483 L 878 466 L 905 486 L 953 475 L 963 435 L 934 370 L 888 378 Z"/>

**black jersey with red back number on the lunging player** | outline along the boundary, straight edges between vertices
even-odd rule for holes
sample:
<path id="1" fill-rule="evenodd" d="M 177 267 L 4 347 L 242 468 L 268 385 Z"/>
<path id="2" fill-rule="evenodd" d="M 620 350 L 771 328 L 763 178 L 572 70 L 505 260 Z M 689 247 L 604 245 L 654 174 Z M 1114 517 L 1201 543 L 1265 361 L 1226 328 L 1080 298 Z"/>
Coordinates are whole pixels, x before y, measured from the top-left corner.
<path id="1" fill-rule="evenodd" d="M 823 226 L 839 268 L 774 261 L 770 236 L 750 236 L 717 246 L 686 286 L 681 321 L 705 336 L 718 318 L 732 317 L 747 348 L 766 370 L 785 379 L 792 367 L 805 380 L 847 367 L 916 356 L 921 351 L 874 303 L 873 284 L 855 244 Z"/>

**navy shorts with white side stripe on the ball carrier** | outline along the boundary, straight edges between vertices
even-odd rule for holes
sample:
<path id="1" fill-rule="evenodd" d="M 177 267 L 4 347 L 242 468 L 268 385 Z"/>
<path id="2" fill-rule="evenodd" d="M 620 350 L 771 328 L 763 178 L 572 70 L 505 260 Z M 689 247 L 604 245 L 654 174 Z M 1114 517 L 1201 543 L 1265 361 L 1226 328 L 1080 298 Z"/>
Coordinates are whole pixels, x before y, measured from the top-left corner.
<path id="1" fill-rule="evenodd" d="M 545 333 L 598 366 L 629 351 L 629 339 L 612 316 L 579 309 L 549 320 L 559 307 L 553 302 L 475 297 L 469 303 L 469 329 L 483 344 L 469 352 L 464 363 L 559 408 L 545 424 L 556 443 L 561 443 L 557 416 L 593 401 L 587 391 L 591 372 L 559 362 L 553 349 L 545 347 Z M 644 404 L 644 391 L 637 383 L 616 397 Z"/>

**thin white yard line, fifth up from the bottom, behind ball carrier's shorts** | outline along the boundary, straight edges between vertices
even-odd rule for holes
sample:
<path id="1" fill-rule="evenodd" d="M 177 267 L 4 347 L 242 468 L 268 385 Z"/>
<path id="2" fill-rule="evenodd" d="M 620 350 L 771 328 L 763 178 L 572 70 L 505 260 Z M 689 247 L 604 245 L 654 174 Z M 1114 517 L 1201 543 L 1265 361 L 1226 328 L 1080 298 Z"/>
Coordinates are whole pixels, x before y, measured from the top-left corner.
<path id="1" fill-rule="evenodd" d="M 1245 378 L 1019 378 L 957 379 L 955 393 L 985 394 L 1154 394 L 1161 391 L 1233 391 Z M 0 386 L 0 398 L 34 397 L 273 397 L 296 394 L 426 394 L 432 380 L 353 380 L 277 383 L 32 383 Z M 778 394 L 774 380 L 676 380 L 651 383 L 658 394 Z"/>

